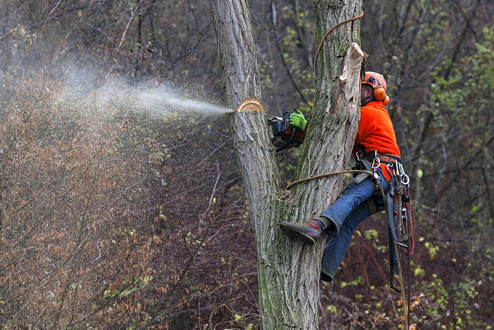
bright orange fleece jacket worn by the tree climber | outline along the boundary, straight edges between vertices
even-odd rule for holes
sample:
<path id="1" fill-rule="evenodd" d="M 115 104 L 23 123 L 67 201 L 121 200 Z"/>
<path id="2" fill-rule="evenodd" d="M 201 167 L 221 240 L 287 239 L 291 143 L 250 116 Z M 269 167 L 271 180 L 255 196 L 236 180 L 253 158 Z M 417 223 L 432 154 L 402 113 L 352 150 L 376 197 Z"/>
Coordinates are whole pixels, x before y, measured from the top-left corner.
<path id="1" fill-rule="evenodd" d="M 382 102 L 369 102 L 360 108 L 359 130 L 355 136 L 354 148 L 363 150 L 365 155 L 376 150 L 381 155 L 401 157 L 393 124 Z M 384 177 L 391 180 L 385 164 L 381 165 L 381 170 Z"/>

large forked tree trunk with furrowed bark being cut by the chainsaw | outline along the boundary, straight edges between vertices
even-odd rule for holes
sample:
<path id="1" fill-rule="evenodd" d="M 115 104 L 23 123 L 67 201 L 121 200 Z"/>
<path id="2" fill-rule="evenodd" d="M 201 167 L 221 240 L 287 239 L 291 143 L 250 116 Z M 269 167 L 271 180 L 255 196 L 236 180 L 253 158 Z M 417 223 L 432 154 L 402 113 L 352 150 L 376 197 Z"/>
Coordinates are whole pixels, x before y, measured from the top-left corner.
<path id="1" fill-rule="evenodd" d="M 318 40 L 332 25 L 360 14 L 361 2 L 315 1 Z M 336 4 L 335 4 L 336 3 Z M 279 230 L 281 221 L 304 222 L 334 202 L 343 178 L 281 187 L 262 108 L 260 77 L 247 0 L 211 0 L 214 29 L 234 148 L 244 177 L 257 245 L 259 308 L 263 329 L 317 329 L 323 243 L 304 246 Z M 297 165 L 296 178 L 348 165 L 360 115 L 364 54 L 359 23 L 338 27 L 318 63 L 317 97 Z M 321 240 L 321 242 L 324 242 Z"/>

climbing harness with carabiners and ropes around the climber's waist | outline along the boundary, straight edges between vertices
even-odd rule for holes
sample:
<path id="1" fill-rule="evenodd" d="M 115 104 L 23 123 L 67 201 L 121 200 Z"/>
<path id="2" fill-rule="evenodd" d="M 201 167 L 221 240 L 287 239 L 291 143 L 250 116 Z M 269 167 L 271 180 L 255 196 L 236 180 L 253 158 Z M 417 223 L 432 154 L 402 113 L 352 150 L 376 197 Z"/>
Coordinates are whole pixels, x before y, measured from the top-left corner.
<path id="1" fill-rule="evenodd" d="M 321 175 L 315 175 L 308 178 L 293 181 L 288 184 L 286 189 L 290 189 L 296 184 L 304 181 L 328 177 L 331 175 L 354 173 L 354 180 L 359 183 L 365 177 L 370 176 L 374 182 L 375 191 L 381 194 L 388 220 L 388 251 L 389 251 L 389 288 L 402 294 L 402 301 L 405 304 L 404 312 L 406 329 L 410 320 L 410 299 L 411 299 L 411 258 L 414 250 L 412 236 L 412 204 L 410 198 L 410 177 L 405 173 L 402 160 L 393 155 L 379 155 L 373 151 L 365 157 L 360 158 L 356 153 L 355 169 L 343 170 Z M 377 172 L 381 164 L 385 164 L 385 170 L 391 174 L 390 189 L 386 194 L 381 185 L 381 176 Z M 365 168 L 365 169 L 363 169 Z M 403 267 L 400 257 L 400 249 L 407 256 L 408 274 L 407 274 L 407 297 L 405 298 L 405 281 L 403 276 Z M 400 286 L 398 289 L 394 286 L 395 274 L 399 276 Z"/>

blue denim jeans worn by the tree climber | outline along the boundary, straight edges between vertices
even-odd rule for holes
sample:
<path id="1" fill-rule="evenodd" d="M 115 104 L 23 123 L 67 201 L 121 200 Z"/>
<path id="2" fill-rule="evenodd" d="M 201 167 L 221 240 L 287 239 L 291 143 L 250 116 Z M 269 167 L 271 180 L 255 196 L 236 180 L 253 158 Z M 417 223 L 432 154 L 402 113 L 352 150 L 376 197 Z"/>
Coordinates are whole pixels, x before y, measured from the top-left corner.
<path id="1" fill-rule="evenodd" d="M 381 176 L 384 193 L 389 192 L 389 182 Z M 379 189 L 374 193 L 374 184 L 368 176 L 362 182 L 352 181 L 339 195 L 336 202 L 322 214 L 329 218 L 334 225 L 326 229 L 328 238 L 321 260 L 321 278 L 332 281 L 338 266 L 343 259 L 352 232 L 359 223 L 376 212 L 386 209 Z"/>

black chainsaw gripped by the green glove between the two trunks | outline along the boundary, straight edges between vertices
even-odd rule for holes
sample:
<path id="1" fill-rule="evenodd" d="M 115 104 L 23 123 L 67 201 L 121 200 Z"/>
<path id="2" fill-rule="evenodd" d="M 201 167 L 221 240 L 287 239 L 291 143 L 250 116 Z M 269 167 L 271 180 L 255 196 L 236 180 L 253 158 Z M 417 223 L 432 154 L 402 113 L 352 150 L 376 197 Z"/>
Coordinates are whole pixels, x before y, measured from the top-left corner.
<path id="1" fill-rule="evenodd" d="M 283 117 L 271 117 L 268 119 L 268 126 L 271 135 L 271 143 L 275 146 L 275 151 L 298 148 L 305 138 L 305 131 L 290 124 L 290 112 L 283 113 Z"/>

